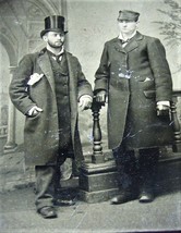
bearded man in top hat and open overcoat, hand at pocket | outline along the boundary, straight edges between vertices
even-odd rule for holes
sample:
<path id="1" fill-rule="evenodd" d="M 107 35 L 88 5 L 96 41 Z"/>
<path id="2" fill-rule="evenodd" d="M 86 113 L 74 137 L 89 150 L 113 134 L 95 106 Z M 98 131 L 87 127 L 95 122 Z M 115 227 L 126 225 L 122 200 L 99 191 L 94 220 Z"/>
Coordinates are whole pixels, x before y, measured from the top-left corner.
<path id="1" fill-rule="evenodd" d="M 40 37 L 46 48 L 26 54 L 10 84 L 14 106 L 26 115 L 25 162 L 35 165 L 36 208 L 44 218 L 56 218 L 57 171 L 68 157 L 79 168 L 82 147 L 77 128 L 77 102 L 92 106 L 93 91 L 81 64 L 64 49 L 64 17 L 45 19 Z"/>

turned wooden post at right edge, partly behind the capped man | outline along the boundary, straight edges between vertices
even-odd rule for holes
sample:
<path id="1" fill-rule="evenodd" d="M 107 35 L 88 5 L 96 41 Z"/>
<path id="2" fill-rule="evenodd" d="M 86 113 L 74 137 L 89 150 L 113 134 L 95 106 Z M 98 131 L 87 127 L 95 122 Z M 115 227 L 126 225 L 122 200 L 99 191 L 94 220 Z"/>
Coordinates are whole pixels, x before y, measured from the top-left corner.
<path id="1" fill-rule="evenodd" d="M 174 94 L 174 93 L 173 93 Z M 173 133 L 174 133 L 174 144 L 172 146 L 173 152 L 181 151 L 181 132 L 180 132 L 180 123 L 177 116 L 177 94 L 173 95 L 173 100 L 171 102 L 171 120 L 173 122 Z"/>

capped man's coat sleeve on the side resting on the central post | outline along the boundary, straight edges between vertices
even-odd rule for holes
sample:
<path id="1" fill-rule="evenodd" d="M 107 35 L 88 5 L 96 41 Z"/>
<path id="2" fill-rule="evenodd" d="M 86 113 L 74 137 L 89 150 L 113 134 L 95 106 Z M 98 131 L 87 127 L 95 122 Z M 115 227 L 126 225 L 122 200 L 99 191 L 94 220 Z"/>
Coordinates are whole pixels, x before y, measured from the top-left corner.
<path id="1" fill-rule="evenodd" d="M 100 58 L 100 64 L 95 74 L 94 91 L 108 90 L 109 78 L 109 60 L 108 60 L 108 46 L 105 44 L 104 51 Z"/>

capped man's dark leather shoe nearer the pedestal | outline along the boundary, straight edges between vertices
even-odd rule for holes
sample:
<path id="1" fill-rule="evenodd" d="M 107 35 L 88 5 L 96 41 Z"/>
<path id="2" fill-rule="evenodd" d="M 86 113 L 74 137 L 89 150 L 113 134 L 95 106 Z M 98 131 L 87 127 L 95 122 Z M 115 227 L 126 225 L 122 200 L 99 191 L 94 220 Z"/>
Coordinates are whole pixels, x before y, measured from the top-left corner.
<path id="1" fill-rule="evenodd" d="M 112 205 L 118 205 L 118 204 L 124 204 L 124 203 L 134 200 L 136 198 L 137 198 L 136 195 L 132 193 L 123 192 L 120 195 L 113 197 L 110 201 Z"/>

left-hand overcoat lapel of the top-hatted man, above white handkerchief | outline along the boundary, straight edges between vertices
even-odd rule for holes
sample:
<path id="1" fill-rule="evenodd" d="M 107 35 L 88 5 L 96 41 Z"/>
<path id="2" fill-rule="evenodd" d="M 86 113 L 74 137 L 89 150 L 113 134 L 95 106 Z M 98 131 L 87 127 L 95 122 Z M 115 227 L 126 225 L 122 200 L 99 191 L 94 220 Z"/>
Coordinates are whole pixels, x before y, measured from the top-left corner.
<path id="1" fill-rule="evenodd" d="M 40 69 L 43 70 L 43 73 L 47 77 L 52 90 L 55 91 L 53 73 L 52 73 L 50 60 L 49 60 L 49 57 L 48 57 L 47 52 L 45 52 L 44 54 L 39 56 L 38 64 L 39 64 Z"/>

